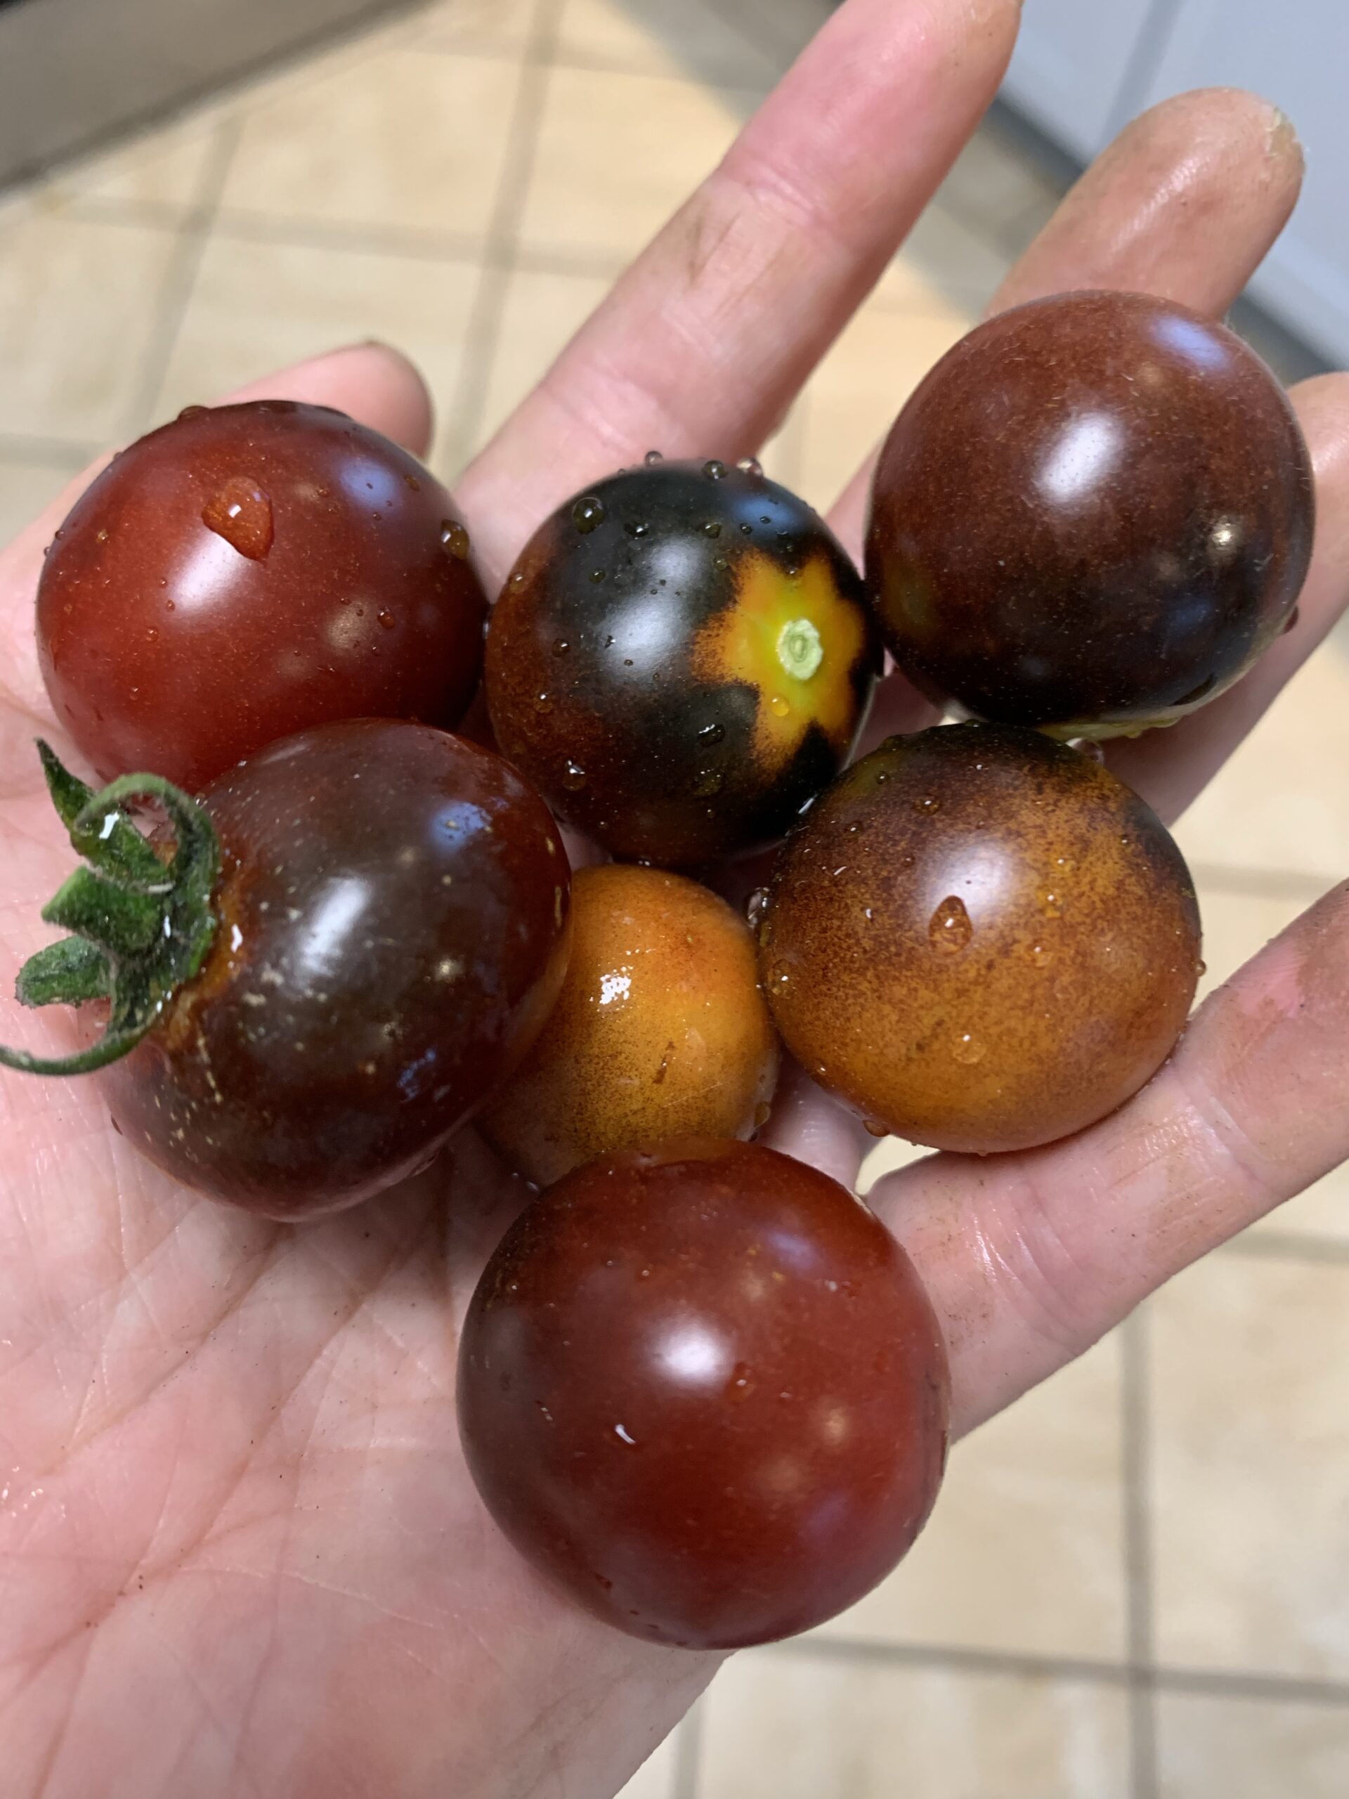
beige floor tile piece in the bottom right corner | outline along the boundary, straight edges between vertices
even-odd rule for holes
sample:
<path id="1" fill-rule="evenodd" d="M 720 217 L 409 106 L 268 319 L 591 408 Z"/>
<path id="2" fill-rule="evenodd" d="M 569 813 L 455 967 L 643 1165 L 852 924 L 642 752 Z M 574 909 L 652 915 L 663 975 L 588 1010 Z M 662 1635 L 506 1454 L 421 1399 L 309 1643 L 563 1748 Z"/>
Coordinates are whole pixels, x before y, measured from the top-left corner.
<path id="1" fill-rule="evenodd" d="M 1349 1709 L 1164 1693 L 1158 1799 L 1344 1799 Z"/>

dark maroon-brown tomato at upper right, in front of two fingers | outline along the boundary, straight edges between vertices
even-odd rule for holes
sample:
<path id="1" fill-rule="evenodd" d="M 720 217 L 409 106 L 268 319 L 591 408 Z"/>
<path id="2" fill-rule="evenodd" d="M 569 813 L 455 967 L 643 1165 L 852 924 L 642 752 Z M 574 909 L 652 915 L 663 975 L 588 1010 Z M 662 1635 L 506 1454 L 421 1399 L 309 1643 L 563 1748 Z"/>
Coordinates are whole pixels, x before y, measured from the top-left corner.
<path id="1" fill-rule="evenodd" d="M 1065 293 L 978 326 L 899 414 L 867 581 L 934 700 L 1117 736 L 1252 666 L 1311 527 L 1297 417 L 1237 336 L 1173 300 Z"/>

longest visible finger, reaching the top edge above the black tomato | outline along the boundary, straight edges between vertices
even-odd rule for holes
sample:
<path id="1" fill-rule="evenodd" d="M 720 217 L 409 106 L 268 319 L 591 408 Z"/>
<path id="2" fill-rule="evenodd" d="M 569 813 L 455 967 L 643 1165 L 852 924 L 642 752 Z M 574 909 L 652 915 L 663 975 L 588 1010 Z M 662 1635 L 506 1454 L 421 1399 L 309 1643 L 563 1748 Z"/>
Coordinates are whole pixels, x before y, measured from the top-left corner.
<path id="1" fill-rule="evenodd" d="M 991 101 L 1018 0 L 849 0 L 459 484 L 502 577 L 648 448 L 755 450 Z"/>

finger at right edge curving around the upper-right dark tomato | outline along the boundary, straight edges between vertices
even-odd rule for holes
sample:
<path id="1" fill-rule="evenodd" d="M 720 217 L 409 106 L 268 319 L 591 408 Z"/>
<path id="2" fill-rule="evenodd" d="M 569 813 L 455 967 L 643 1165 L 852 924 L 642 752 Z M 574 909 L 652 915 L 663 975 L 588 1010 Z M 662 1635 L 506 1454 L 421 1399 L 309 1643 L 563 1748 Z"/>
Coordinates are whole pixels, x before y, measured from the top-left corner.
<path id="1" fill-rule="evenodd" d="M 1167 820 L 1209 784 L 1349 604 L 1349 374 L 1302 381 L 1291 399 L 1317 471 L 1317 541 L 1297 624 L 1212 705 L 1108 747 L 1115 774 Z"/>

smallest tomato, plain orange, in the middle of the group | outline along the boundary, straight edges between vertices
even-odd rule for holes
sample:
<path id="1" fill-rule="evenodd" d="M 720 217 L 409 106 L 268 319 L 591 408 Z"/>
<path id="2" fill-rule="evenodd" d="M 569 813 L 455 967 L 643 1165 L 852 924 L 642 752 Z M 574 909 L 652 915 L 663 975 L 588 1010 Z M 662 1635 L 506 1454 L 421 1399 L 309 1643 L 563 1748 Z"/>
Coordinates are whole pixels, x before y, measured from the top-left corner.
<path id="1" fill-rule="evenodd" d="M 561 995 L 480 1124 L 549 1184 L 613 1150 L 748 1137 L 777 1067 L 754 939 L 727 901 L 658 869 L 581 869 Z"/>

